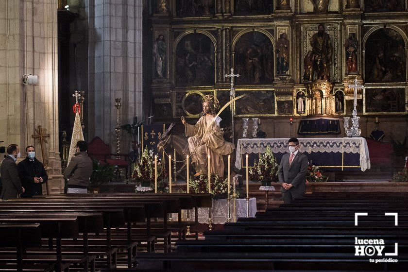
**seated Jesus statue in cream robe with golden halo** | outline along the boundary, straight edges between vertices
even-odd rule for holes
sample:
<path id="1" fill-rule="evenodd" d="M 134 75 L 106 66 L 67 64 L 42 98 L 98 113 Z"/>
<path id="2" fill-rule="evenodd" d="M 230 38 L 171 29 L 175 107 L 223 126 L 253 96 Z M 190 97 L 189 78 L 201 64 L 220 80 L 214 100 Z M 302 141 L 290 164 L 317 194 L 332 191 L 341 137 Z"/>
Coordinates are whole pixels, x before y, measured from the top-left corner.
<path id="1" fill-rule="evenodd" d="M 231 154 L 234 150 L 234 144 L 226 142 L 223 138 L 223 132 L 220 128 L 221 118 L 215 116 L 216 108 L 214 102 L 205 100 L 203 102 L 204 115 L 195 125 L 187 124 L 184 117 L 182 123 L 186 127 L 186 136 L 188 136 L 188 149 L 191 154 L 191 163 L 196 170 L 195 176 L 206 174 L 208 172 L 208 159 L 210 155 L 211 174 L 224 176 L 224 162 L 222 155 Z M 207 127 L 209 127 L 207 129 Z"/>

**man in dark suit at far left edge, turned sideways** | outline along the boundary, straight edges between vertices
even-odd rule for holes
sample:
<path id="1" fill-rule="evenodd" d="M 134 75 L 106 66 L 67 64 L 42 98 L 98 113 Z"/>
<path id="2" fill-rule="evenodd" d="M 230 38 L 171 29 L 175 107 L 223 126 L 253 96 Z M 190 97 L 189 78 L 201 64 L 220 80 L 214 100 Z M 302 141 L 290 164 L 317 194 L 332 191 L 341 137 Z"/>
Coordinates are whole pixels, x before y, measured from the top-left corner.
<path id="1" fill-rule="evenodd" d="M 3 185 L 0 194 L 2 200 L 17 198 L 18 194 L 24 192 L 24 188 L 21 186 L 21 181 L 18 177 L 16 165 L 17 158 L 20 156 L 20 148 L 17 144 L 11 144 L 7 147 L 7 155 L 4 156 L 4 160 L 0 166 L 0 175 Z"/>

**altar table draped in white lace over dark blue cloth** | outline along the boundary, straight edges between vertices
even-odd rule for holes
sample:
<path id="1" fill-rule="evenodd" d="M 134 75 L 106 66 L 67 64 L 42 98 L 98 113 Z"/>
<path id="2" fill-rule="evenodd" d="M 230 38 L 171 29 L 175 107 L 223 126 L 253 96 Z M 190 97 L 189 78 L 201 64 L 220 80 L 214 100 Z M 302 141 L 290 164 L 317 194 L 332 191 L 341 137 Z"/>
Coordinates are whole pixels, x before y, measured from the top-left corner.
<path id="1" fill-rule="evenodd" d="M 324 170 L 361 170 L 370 169 L 370 155 L 367 141 L 363 137 L 343 138 L 298 138 L 300 152 L 307 155 L 313 165 Z M 244 156 L 249 154 L 249 167 L 271 146 L 272 153 L 280 163 L 282 156 L 288 153 L 289 138 L 238 139 L 235 166 L 246 167 Z"/>

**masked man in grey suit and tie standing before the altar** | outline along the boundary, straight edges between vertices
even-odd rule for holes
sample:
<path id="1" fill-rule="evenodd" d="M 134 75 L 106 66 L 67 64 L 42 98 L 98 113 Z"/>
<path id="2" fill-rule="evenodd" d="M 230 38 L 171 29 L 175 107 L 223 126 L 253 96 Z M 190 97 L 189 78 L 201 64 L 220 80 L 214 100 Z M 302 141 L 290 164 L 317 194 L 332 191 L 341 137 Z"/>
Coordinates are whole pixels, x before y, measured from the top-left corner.
<path id="1" fill-rule="evenodd" d="M 285 204 L 302 197 L 306 191 L 306 174 L 308 161 L 304 153 L 299 152 L 299 140 L 290 138 L 289 153 L 282 156 L 278 169 L 281 193 Z"/>

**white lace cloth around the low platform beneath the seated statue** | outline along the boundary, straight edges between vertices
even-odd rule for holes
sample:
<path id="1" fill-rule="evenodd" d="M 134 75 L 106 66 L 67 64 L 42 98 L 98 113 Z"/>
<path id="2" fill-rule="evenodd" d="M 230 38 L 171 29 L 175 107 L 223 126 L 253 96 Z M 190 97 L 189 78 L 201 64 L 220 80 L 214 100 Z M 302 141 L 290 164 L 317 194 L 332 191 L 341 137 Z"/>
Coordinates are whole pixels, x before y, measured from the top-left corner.
<path id="1" fill-rule="evenodd" d="M 234 218 L 234 201 L 231 199 L 231 222 L 239 217 L 246 217 L 246 199 L 239 198 L 236 200 L 236 216 Z M 227 200 L 226 199 L 213 199 L 212 201 L 212 223 L 224 224 L 227 221 Z M 190 221 L 194 221 L 194 210 L 190 210 Z M 256 213 L 256 198 L 249 199 L 249 216 L 255 217 Z M 178 214 L 171 214 L 173 221 L 178 220 Z M 182 211 L 182 220 L 187 220 L 187 210 Z M 198 222 L 208 224 L 208 208 L 198 208 Z"/>

